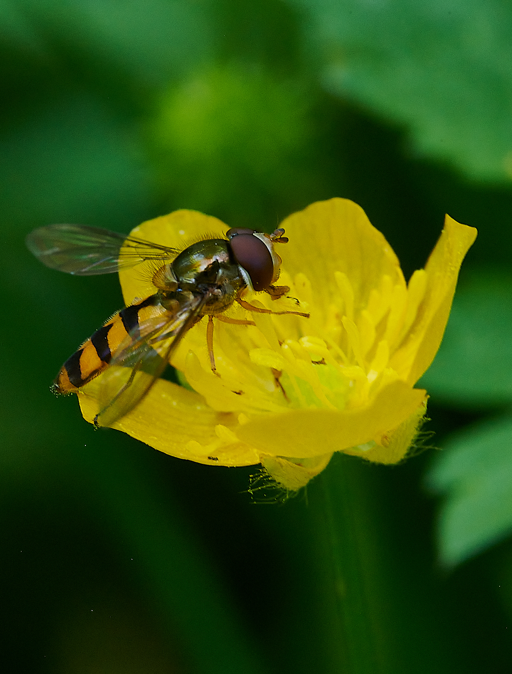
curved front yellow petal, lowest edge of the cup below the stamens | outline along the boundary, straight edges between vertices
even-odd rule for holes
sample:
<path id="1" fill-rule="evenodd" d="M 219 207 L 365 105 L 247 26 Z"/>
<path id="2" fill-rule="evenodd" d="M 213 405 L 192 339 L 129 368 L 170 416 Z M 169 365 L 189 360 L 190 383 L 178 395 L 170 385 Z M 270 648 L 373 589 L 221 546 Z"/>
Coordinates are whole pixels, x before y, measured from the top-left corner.
<path id="1" fill-rule="evenodd" d="M 261 415 L 241 426 L 236 435 L 263 454 L 310 458 L 368 442 L 399 427 L 424 400 L 425 392 L 403 381 L 384 386 L 363 408 L 290 410 Z"/>

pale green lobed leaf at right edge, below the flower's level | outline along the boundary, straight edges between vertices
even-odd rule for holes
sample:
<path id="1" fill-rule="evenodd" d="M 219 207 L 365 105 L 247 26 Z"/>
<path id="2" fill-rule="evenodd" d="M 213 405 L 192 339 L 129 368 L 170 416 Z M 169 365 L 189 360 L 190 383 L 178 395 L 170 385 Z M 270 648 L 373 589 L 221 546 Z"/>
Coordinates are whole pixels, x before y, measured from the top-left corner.
<path id="1" fill-rule="evenodd" d="M 445 495 L 439 556 L 454 566 L 512 532 L 512 419 L 476 425 L 454 436 L 445 449 L 427 484 Z"/>

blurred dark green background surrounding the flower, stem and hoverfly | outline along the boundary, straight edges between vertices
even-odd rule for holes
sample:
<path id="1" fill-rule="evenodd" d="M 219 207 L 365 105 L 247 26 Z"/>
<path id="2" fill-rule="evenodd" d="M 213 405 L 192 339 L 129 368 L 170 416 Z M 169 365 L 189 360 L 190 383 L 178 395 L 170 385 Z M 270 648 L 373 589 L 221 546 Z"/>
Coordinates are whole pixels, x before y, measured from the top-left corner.
<path id="1" fill-rule="evenodd" d="M 0 25 L 4 671 L 342 671 L 319 480 L 255 504 L 254 467 L 94 431 L 49 384 L 119 283 L 24 246 L 51 222 L 128 232 L 177 208 L 270 231 L 333 196 L 406 277 L 445 212 L 479 230 L 421 381 L 433 447 L 333 467 L 386 570 L 378 671 L 512 671 L 510 3 L 1 0 Z"/>

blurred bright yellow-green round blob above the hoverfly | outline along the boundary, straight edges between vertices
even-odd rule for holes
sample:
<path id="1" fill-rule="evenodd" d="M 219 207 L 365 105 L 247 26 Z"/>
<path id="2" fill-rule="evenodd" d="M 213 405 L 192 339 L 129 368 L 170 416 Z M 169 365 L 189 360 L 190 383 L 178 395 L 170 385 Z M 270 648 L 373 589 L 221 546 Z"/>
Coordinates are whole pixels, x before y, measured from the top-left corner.
<path id="1" fill-rule="evenodd" d="M 149 129 L 162 197 L 255 227 L 304 198 L 318 182 L 310 99 L 255 66 L 210 66 L 172 86 Z"/>

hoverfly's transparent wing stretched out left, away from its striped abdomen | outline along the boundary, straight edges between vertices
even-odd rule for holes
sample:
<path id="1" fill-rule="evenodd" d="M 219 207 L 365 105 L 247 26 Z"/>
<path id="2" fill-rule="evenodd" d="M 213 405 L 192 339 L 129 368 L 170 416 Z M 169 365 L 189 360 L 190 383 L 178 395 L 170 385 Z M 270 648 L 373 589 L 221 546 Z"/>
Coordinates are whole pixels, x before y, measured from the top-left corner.
<path id="1" fill-rule="evenodd" d="M 39 227 L 30 232 L 26 243 L 47 267 L 77 276 L 110 274 L 148 259 L 168 262 L 178 252 L 158 243 L 82 224 Z"/>

